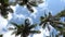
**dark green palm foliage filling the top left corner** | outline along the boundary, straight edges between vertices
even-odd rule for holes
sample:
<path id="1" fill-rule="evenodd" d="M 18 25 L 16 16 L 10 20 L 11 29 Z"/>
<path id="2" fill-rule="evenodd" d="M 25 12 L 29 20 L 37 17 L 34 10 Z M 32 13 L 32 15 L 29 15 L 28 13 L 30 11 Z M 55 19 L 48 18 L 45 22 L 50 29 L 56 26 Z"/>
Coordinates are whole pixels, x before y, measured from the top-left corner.
<path id="1" fill-rule="evenodd" d="M 0 0 L 0 14 L 6 18 L 9 12 L 13 12 L 13 10 L 10 8 L 9 0 Z"/>

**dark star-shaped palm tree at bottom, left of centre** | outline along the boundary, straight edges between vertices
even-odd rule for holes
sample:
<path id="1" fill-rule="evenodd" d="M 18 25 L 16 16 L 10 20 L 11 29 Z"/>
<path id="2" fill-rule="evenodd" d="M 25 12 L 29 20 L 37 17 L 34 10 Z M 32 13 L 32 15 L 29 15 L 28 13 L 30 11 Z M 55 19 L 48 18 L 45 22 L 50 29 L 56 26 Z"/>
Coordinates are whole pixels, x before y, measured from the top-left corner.
<path id="1" fill-rule="evenodd" d="M 12 23 L 12 22 L 11 22 Z M 30 25 L 28 18 L 25 20 L 25 24 L 17 25 L 15 23 L 12 23 L 16 30 L 13 32 L 15 36 L 21 35 L 21 37 L 27 37 L 29 34 L 39 34 L 39 30 L 31 30 L 31 28 L 35 28 L 37 24 Z M 12 29 L 12 28 L 10 28 Z"/>

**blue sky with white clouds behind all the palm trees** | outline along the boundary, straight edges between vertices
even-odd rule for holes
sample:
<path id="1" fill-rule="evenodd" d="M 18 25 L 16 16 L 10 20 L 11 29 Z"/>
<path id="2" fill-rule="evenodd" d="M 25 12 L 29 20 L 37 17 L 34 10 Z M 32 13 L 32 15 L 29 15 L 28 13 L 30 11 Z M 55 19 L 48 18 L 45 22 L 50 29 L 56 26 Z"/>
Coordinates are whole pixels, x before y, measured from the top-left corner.
<path id="1" fill-rule="evenodd" d="M 48 12 L 51 12 L 53 15 L 55 15 L 60 11 L 64 10 L 65 9 L 65 0 L 44 0 L 43 3 L 39 4 L 36 8 L 32 8 L 35 10 L 34 13 L 30 13 L 27 10 L 27 8 L 21 7 L 18 4 L 16 4 L 15 7 L 11 7 L 11 8 L 14 10 L 14 13 L 13 14 L 10 13 L 9 14 L 10 17 L 8 20 L 3 18 L 0 15 L 0 34 L 5 33 L 3 37 L 11 36 L 10 32 L 8 32 L 8 29 L 6 29 L 10 26 L 9 25 L 10 21 L 15 22 L 17 24 L 22 24 L 22 23 L 24 23 L 25 18 L 29 18 L 31 24 L 39 23 L 39 17 L 43 15 L 44 11 L 47 14 L 48 14 Z M 34 35 L 34 37 L 36 37 L 36 36 L 46 37 L 46 36 L 50 35 L 47 27 L 46 27 L 46 29 L 42 29 L 42 28 L 39 28 L 39 26 L 37 26 L 36 29 L 40 29 L 41 34 L 36 34 L 36 35 Z M 53 32 L 52 29 L 54 30 L 53 27 L 51 28 L 51 32 Z M 43 35 L 46 35 L 46 36 L 43 36 Z M 11 36 L 11 37 L 13 37 L 13 36 Z"/>

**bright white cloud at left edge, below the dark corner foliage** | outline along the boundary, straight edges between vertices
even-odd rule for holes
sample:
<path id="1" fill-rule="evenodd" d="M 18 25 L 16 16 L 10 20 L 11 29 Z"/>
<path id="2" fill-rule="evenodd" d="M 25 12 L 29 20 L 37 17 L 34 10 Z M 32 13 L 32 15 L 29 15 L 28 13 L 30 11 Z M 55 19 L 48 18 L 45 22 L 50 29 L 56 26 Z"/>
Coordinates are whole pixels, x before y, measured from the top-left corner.
<path id="1" fill-rule="evenodd" d="M 8 20 L 3 18 L 0 15 L 0 34 L 3 34 L 5 32 L 6 25 L 8 25 Z"/>

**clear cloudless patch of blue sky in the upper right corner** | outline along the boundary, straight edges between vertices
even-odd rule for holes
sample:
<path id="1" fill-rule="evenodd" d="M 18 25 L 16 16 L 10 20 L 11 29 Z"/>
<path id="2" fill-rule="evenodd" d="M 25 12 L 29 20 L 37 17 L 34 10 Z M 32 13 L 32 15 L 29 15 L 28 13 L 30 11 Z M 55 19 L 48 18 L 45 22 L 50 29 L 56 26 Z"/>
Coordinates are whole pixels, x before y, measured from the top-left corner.
<path id="1" fill-rule="evenodd" d="M 52 14 L 56 14 L 61 10 L 65 9 L 64 0 L 50 0 L 48 4 L 49 10 L 53 12 Z"/>

